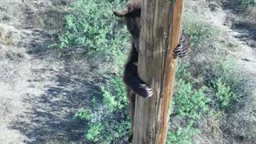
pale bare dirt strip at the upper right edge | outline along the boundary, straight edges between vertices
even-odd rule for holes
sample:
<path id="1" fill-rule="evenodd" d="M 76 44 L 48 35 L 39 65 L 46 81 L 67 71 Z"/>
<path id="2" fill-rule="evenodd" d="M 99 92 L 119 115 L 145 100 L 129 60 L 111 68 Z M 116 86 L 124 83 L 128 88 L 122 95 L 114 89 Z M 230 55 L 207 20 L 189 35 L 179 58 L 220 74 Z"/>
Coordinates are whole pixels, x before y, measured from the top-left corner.
<path id="1" fill-rule="evenodd" d="M 234 42 L 230 43 L 230 47 L 237 47 L 237 50 L 230 51 L 230 54 L 238 60 L 238 69 L 241 69 L 243 74 L 256 78 L 256 28 L 230 20 L 230 17 L 236 17 L 234 11 L 223 7 L 223 10 L 207 15 L 210 16 L 211 22 L 221 29 L 221 37 Z"/>

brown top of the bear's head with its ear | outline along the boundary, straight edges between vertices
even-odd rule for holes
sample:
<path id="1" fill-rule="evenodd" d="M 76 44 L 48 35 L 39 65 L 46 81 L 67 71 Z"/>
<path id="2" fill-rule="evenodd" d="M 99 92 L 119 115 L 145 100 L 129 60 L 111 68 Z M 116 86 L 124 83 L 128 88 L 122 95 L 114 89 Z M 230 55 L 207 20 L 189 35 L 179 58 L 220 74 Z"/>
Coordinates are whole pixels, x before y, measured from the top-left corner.
<path id="1" fill-rule="evenodd" d="M 122 10 L 114 11 L 114 15 L 118 17 L 140 17 L 141 5 L 141 0 L 131 0 Z"/>

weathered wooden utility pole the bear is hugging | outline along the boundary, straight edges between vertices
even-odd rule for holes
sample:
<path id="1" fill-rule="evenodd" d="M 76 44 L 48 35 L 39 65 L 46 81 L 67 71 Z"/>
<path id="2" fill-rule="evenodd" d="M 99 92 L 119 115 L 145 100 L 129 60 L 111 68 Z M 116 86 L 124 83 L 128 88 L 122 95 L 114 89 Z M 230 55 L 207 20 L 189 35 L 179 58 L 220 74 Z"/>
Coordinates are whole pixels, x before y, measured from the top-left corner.
<path id="1" fill-rule="evenodd" d="M 134 144 L 166 143 L 176 68 L 172 54 L 182 32 L 183 7 L 184 0 L 142 0 L 138 73 L 154 95 L 136 97 Z"/>

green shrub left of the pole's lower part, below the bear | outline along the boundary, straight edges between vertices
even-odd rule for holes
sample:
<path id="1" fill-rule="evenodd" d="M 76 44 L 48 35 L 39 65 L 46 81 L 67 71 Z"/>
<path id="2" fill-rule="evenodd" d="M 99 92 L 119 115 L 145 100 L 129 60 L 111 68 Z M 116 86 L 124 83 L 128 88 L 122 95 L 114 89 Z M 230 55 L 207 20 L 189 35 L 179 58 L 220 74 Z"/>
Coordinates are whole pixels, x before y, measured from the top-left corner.
<path id="1" fill-rule="evenodd" d="M 78 110 L 74 119 L 87 122 L 85 137 L 88 142 L 116 142 L 130 134 L 126 89 L 121 77 L 112 77 L 101 90 L 102 98 L 92 98 L 90 110 Z"/>

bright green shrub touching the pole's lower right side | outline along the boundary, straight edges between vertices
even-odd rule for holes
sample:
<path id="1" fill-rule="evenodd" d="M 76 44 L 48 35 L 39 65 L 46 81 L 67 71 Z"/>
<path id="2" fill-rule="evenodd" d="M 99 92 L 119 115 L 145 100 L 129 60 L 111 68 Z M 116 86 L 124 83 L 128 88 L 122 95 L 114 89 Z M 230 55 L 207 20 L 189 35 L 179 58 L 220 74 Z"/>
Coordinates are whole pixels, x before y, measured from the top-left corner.
<path id="1" fill-rule="evenodd" d="M 199 130 L 194 127 L 194 124 L 198 122 L 202 115 L 209 113 L 210 98 L 206 97 L 206 87 L 196 90 L 192 87 L 190 81 L 192 76 L 187 69 L 186 65 L 179 65 L 177 69 L 176 78 L 179 79 L 176 86 L 176 92 L 174 94 L 174 100 L 172 102 L 171 115 L 178 116 L 178 118 L 185 120 L 181 124 L 171 123 L 172 128 L 168 132 L 167 143 L 171 144 L 190 144 L 194 143 L 193 136 L 198 134 Z M 178 122 L 179 123 L 179 122 Z"/>

